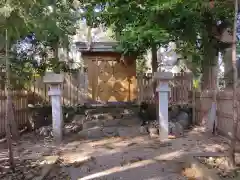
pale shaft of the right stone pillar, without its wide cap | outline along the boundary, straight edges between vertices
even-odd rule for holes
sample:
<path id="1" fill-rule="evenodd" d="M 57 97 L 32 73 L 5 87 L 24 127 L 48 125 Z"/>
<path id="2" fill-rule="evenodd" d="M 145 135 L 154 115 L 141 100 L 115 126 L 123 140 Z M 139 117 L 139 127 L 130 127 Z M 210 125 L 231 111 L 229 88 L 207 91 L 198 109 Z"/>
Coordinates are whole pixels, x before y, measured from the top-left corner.
<path id="1" fill-rule="evenodd" d="M 159 100 L 159 135 L 161 140 L 168 139 L 168 93 L 170 88 L 168 82 L 160 82 L 157 87 Z"/>

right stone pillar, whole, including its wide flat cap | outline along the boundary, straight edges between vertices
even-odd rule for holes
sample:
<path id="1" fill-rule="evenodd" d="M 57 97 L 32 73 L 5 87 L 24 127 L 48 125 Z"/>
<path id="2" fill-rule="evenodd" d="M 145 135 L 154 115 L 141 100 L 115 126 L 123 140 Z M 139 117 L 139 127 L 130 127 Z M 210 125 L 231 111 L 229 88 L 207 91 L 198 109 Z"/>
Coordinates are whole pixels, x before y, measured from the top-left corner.
<path id="1" fill-rule="evenodd" d="M 173 74 L 170 72 L 154 73 L 154 79 L 160 80 L 156 91 L 158 92 L 159 100 L 159 135 L 160 139 L 163 141 L 168 139 L 168 94 L 170 92 L 168 82 L 172 78 Z"/>

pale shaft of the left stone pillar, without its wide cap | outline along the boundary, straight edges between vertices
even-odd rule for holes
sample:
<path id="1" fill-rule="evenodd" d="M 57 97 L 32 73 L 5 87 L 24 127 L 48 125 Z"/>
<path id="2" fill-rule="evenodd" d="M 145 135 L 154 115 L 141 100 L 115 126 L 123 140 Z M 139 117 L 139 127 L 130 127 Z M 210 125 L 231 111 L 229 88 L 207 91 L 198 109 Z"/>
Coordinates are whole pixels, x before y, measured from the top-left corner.
<path id="1" fill-rule="evenodd" d="M 51 96 L 51 103 L 52 103 L 53 137 L 56 142 L 61 142 L 62 127 L 63 127 L 63 115 L 62 115 L 60 85 L 50 85 L 50 90 L 49 90 L 48 94 L 49 94 L 49 96 Z"/>

